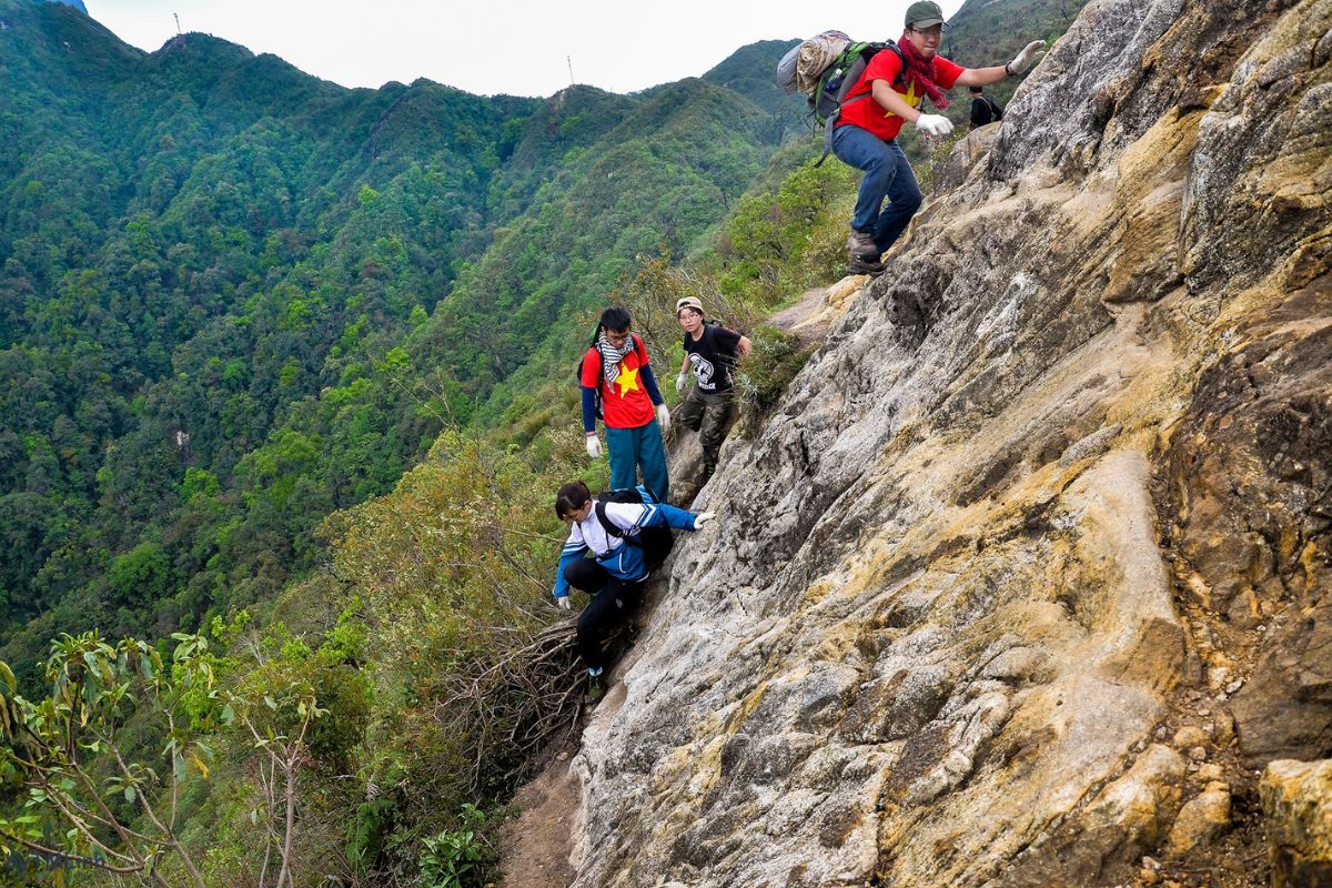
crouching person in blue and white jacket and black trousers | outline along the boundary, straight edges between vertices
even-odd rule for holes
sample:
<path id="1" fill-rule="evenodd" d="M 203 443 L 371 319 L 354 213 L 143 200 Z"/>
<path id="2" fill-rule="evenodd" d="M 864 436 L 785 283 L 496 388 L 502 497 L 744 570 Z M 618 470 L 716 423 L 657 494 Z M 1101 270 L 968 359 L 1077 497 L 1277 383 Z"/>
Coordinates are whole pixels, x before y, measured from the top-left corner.
<path id="1" fill-rule="evenodd" d="M 606 692 L 602 644 L 629 619 L 647 575 L 670 554 L 671 529 L 698 530 L 714 514 L 667 506 L 642 486 L 593 498 L 581 481 L 559 489 L 555 514 L 573 525 L 559 554 L 555 603 L 569 610 L 570 586 L 593 596 L 578 616 L 578 652 L 590 678 L 587 702 L 597 703 Z M 587 551 L 593 558 L 583 558 Z"/>

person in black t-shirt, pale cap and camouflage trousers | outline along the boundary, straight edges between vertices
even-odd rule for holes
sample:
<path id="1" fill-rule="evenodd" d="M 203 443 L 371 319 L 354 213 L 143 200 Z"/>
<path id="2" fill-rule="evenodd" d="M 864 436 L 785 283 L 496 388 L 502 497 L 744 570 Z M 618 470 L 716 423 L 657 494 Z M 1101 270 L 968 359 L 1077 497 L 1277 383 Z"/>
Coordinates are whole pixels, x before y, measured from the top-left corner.
<path id="1" fill-rule="evenodd" d="M 750 341 L 735 330 L 707 324 L 703 304 L 693 296 L 675 302 L 675 320 L 685 330 L 685 359 L 675 377 L 677 391 L 685 391 L 687 370 L 694 369 L 694 387 L 685 395 L 678 419 L 698 433 L 703 446 L 703 475 L 698 482 L 702 487 L 717 471 L 717 454 L 735 417 L 731 370 L 741 355 L 749 354 Z"/>

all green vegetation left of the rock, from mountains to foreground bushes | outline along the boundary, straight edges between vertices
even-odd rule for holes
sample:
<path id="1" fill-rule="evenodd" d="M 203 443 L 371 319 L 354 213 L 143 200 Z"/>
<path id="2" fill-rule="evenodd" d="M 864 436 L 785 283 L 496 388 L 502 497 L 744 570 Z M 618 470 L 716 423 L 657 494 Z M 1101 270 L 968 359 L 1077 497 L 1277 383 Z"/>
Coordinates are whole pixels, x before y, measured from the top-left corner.
<path id="1" fill-rule="evenodd" d="M 0 0 L 0 727 L 47 768 L 0 763 L 0 853 L 481 884 L 577 711 L 515 688 L 577 690 L 549 503 L 603 481 L 571 383 L 591 317 L 629 304 L 678 362 L 669 306 L 702 296 L 754 335 L 761 410 L 805 354 L 761 317 L 839 273 L 856 176 L 811 165 L 790 45 L 478 97 Z"/>

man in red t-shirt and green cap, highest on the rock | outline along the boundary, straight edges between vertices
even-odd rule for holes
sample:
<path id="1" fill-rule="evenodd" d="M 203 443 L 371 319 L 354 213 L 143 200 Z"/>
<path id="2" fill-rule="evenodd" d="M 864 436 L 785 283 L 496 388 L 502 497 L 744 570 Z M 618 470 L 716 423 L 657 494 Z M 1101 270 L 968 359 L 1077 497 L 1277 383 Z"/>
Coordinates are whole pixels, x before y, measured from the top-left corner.
<path id="1" fill-rule="evenodd" d="M 948 107 L 943 95 L 948 89 L 984 87 L 1022 73 L 1046 45 L 1044 40 L 1028 43 L 1007 65 L 962 68 L 938 55 L 944 27 L 943 11 L 932 0 L 918 0 L 907 7 L 906 31 L 898 43 L 900 55 L 891 49 L 875 53 L 835 118 L 832 153 L 864 170 L 851 216 L 851 237 L 846 242 L 851 253 L 847 268 L 852 274 L 882 272 L 879 256 L 892 246 L 920 209 L 920 186 L 895 141 L 902 125 L 910 121 L 930 136 L 952 132 L 952 121 L 943 114 L 920 112 L 920 100 L 927 97 L 942 111 Z"/>

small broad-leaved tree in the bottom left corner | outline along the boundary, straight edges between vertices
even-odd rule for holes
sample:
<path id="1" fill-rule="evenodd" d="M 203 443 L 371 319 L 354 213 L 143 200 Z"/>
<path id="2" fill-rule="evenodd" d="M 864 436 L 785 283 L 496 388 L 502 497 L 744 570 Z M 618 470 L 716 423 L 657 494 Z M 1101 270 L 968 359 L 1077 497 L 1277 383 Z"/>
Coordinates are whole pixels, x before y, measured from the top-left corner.
<path id="1" fill-rule="evenodd" d="M 181 716 L 182 698 L 213 682 L 201 656 L 206 642 L 173 635 L 178 644 L 164 663 L 147 642 L 127 638 L 116 647 L 96 631 L 63 635 L 51 644 L 51 695 L 31 703 L 0 663 L 0 728 L 7 740 L 4 770 L 27 789 L 31 813 L 0 819 L 0 851 L 27 849 L 169 888 L 164 857 L 176 853 L 189 883 L 202 876 L 176 832 L 181 792 L 193 775 L 208 776 L 212 751 L 192 738 Z M 127 726 L 144 719 L 165 743 L 159 772 L 133 760 Z M 123 796 L 128 809 L 116 801 Z M 41 825 L 51 816 L 67 829 L 52 840 Z"/>

